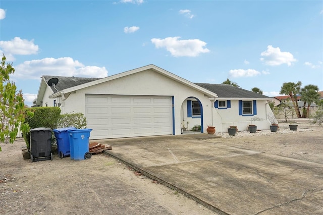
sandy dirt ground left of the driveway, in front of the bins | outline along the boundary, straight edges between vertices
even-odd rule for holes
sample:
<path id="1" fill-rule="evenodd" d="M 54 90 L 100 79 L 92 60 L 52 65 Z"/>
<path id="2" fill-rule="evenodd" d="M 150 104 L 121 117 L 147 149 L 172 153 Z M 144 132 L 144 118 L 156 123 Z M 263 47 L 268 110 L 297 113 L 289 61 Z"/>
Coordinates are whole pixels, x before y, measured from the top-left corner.
<path id="1" fill-rule="evenodd" d="M 0 214 L 216 214 L 102 153 L 24 160 L 23 139 L 0 152 Z"/>

